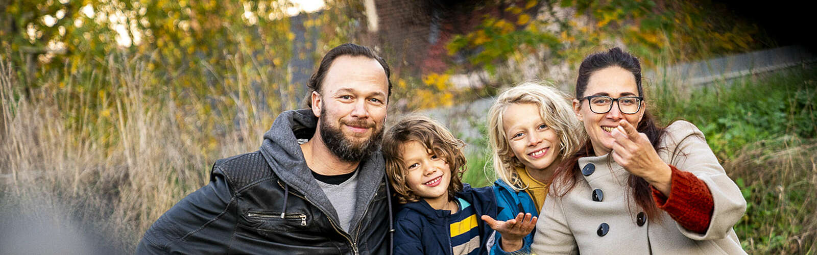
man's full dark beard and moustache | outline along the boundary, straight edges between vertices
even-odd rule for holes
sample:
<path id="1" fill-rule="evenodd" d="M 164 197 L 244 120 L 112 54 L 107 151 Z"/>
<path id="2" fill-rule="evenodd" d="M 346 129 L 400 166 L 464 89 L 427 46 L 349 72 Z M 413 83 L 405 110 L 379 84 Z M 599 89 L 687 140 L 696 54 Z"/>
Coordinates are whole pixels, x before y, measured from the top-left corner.
<path id="1" fill-rule="evenodd" d="M 321 116 L 326 116 L 325 108 L 321 110 Z M 323 119 L 326 120 L 326 119 Z M 328 121 L 320 121 L 320 138 L 324 144 L 335 154 L 338 158 L 346 162 L 359 162 L 368 158 L 369 155 L 375 151 L 380 150 L 380 143 L 383 138 L 383 129 L 377 129 L 377 124 L 367 123 L 366 120 L 361 119 L 355 122 L 344 122 L 342 124 L 351 125 L 354 127 L 373 128 L 373 133 L 366 141 L 355 142 L 350 140 L 343 134 L 340 127 L 333 127 Z"/>

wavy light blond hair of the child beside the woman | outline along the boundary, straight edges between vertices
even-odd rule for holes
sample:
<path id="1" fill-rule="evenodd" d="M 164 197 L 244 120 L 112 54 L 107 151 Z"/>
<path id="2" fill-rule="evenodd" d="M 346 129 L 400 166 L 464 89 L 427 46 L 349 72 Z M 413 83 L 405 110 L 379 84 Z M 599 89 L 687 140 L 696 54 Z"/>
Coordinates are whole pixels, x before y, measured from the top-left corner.
<path id="1" fill-rule="evenodd" d="M 545 124 L 556 131 L 560 139 L 559 157 L 567 158 L 580 147 L 587 136 L 584 128 L 575 116 L 568 96 L 556 87 L 537 82 L 520 83 L 499 94 L 488 112 L 488 141 L 493 149 L 493 169 L 497 177 L 505 181 L 516 191 L 524 190 L 523 183 L 516 168 L 525 166 L 511 150 L 505 129 L 502 127 L 503 114 L 508 106 L 514 104 L 534 104 L 539 106 L 539 116 Z"/>

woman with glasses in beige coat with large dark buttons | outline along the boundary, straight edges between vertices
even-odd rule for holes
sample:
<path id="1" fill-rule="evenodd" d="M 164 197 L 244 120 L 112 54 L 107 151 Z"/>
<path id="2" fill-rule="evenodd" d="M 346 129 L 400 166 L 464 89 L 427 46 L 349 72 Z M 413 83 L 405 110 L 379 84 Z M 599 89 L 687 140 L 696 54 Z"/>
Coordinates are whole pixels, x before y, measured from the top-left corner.
<path id="1" fill-rule="evenodd" d="M 738 186 L 694 124 L 660 127 L 647 101 L 636 57 L 614 47 L 583 60 L 573 108 L 589 139 L 554 173 L 534 253 L 745 253 Z"/>

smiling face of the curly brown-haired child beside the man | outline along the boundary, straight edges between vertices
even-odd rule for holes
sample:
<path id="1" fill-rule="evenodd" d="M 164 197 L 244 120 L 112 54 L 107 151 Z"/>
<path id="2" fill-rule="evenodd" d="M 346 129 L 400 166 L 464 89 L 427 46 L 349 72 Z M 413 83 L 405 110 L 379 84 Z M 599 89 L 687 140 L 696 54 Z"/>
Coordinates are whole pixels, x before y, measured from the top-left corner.
<path id="1" fill-rule="evenodd" d="M 418 141 L 400 146 L 408 188 L 428 204 L 445 204 L 449 199 L 451 169 L 443 158 Z"/>

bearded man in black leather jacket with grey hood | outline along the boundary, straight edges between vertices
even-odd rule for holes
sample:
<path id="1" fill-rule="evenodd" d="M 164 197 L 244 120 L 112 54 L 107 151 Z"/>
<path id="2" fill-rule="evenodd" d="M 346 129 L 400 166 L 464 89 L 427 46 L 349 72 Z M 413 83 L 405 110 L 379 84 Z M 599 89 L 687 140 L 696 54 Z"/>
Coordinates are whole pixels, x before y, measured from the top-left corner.
<path id="1" fill-rule="evenodd" d="M 217 160 L 210 183 L 159 217 L 136 253 L 387 253 L 389 76 L 368 47 L 330 50 L 309 80 L 310 109 L 280 114 L 260 150 Z"/>

